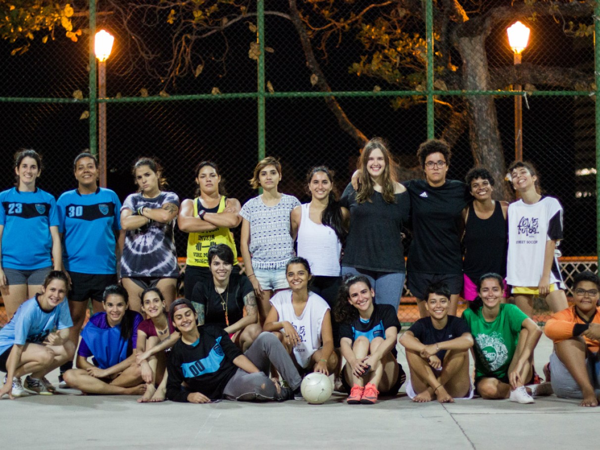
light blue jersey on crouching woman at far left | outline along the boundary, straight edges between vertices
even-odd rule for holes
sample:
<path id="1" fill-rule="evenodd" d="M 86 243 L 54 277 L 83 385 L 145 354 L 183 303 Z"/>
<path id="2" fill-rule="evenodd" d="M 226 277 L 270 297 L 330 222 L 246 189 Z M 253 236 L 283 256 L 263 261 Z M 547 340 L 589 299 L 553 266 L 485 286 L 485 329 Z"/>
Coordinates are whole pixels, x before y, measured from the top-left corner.
<path id="1" fill-rule="evenodd" d="M 66 298 L 52 311 L 44 311 L 36 297 L 30 298 L 0 330 L 0 355 L 13 344 L 41 344 L 51 332 L 71 326 L 73 322 Z"/>

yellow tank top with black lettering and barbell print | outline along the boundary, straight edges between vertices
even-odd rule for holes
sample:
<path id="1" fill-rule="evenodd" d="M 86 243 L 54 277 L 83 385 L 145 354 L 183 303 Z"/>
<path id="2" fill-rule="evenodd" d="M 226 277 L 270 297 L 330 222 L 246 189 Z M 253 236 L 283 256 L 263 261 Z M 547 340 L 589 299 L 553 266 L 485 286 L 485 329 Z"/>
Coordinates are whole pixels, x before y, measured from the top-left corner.
<path id="1" fill-rule="evenodd" d="M 227 199 L 221 196 L 217 212 L 223 212 Z M 198 215 L 198 206 L 202 207 L 198 197 L 194 199 L 194 217 Z M 229 228 L 218 227 L 208 231 L 190 233 L 188 235 L 187 259 L 188 266 L 208 267 L 208 249 L 212 245 L 226 244 L 233 251 L 233 264 L 238 263 L 238 253 L 233 241 L 233 233 Z"/>

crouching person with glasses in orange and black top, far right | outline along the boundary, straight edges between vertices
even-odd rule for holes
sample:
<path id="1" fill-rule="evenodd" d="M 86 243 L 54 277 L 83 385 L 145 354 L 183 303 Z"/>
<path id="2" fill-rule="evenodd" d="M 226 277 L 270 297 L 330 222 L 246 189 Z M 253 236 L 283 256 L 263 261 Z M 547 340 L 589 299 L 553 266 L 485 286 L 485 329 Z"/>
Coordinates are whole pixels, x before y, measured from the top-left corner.
<path id="1" fill-rule="evenodd" d="M 544 367 L 546 381 L 554 394 L 580 398 L 580 406 L 598 406 L 595 389 L 600 389 L 600 281 L 592 272 L 575 275 L 572 307 L 554 313 L 545 334 L 554 341 L 554 352 Z"/>

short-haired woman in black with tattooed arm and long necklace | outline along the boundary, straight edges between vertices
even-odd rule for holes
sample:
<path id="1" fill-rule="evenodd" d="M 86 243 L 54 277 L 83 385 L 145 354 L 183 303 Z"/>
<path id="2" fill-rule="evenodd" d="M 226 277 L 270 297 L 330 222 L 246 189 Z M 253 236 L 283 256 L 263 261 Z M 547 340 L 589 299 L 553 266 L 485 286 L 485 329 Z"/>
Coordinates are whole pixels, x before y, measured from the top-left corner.
<path id="1" fill-rule="evenodd" d="M 223 328 L 242 352 L 262 332 L 254 288 L 238 269 L 233 273 L 233 251 L 226 244 L 213 245 L 208 250 L 211 277 L 196 283 L 191 296 L 199 325 L 211 323 Z M 244 316 L 244 309 L 246 315 Z"/>

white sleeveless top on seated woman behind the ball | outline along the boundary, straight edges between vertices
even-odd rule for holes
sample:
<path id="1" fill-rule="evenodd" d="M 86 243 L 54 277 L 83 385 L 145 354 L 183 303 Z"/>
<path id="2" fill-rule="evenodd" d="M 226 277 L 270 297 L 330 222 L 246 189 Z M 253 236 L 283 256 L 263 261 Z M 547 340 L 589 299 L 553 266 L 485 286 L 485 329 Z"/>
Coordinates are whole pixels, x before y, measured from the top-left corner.
<path id="1" fill-rule="evenodd" d="M 310 364 L 310 357 L 322 346 L 321 328 L 323 317 L 329 310 L 329 305 L 316 293 L 308 291 L 308 301 L 304 311 L 298 317 L 292 306 L 292 290 L 280 290 L 270 300 L 277 310 L 278 322 L 290 322 L 300 337 L 300 342 L 293 349 L 296 362 L 302 368 Z M 283 328 L 281 329 L 283 332 Z"/>

